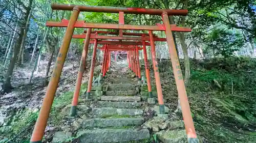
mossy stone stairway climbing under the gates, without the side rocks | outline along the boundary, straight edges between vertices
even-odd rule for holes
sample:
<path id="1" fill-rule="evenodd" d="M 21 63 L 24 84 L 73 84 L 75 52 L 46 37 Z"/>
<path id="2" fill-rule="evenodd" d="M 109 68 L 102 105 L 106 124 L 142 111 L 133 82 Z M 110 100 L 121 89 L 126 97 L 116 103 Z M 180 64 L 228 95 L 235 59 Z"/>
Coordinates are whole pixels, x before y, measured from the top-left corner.
<path id="1" fill-rule="evenodd" d="M 110 71 L 103 79 L 106 87 L 92 109 L 94 118 L 83 120 L 76 134 L 80 142 L 142 142 L 150 138 L 144 123 L 141 97 L 136 90 L 137 79 L 121 69 Z"/>

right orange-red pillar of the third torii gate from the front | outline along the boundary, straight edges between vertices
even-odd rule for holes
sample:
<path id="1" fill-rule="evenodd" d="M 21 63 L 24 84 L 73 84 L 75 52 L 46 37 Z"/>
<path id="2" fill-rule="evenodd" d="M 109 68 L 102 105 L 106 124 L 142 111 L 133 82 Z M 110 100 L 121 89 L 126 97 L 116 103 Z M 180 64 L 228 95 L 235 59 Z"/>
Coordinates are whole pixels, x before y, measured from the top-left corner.
<path id="1" fill-rule="evenodd" d="M 147 61 L 146 43 L 145 43 L 144 40 L 142 41 L 142 46 L 143 46 L 143 55 L 144 55 L 144 62 L 145 62 L 148 97 L 153 98 L 152 87 L 151 87 L 151 79 L 150 79 L 150 67 L 149 67 L 148 61 Z"/>

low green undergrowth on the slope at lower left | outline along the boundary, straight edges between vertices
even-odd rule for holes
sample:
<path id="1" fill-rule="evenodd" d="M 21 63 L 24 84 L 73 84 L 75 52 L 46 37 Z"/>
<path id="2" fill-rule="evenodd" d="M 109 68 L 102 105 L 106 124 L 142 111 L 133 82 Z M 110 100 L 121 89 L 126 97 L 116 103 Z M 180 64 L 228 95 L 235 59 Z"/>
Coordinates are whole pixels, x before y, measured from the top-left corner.
<path id="1" fill-rule="evenodd" d="M 87 83 L 81 85 L 80 95 L 87 90 Z M 62 93 L 55 97 L 52 104 L 48 124 L 57 126 L 65 115 L 61 113 L 61 109 L 71 104 L 73 91 Z M 23 109 L 9 119 L 6 126 L 0 127 L 0 143 L 20 142 L 29 143 L 34 124 L 38 117 L 39 110 Z M 3 138 L 4 137 L 4 138 Z"/>

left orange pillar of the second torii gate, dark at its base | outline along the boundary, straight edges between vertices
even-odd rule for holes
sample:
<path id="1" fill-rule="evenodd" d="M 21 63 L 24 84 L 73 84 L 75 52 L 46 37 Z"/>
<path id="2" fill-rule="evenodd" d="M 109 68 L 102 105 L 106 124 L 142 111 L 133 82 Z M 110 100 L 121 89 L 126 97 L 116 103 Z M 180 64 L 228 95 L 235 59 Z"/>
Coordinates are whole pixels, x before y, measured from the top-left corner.
<path id="1" fill-rule="evenodd" d="M 81 89 L 82 74 L 84 72 L 84 67 L 86 65 L 86 60 L 87 60 L 87 53 L 88 53 L 91 31 L 92 31 L 92 28 L 89 28 L 86 34 L 86 41 L 84 42 L 84 46 L 82 50 L 82 57 L 81 57 L 79 71 L 78 71 L 77 80 L 76 80 L 76 87 L 75 87 L 72 106 L 70 110 L 71 117 L 74 117 L 76 115 L 76 106 L 78 104 L 79 92 Z"/>

